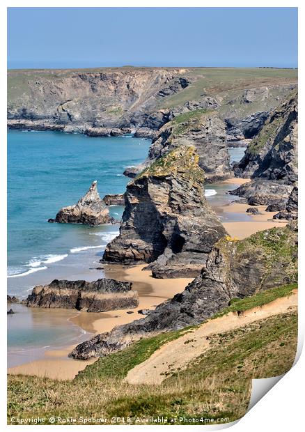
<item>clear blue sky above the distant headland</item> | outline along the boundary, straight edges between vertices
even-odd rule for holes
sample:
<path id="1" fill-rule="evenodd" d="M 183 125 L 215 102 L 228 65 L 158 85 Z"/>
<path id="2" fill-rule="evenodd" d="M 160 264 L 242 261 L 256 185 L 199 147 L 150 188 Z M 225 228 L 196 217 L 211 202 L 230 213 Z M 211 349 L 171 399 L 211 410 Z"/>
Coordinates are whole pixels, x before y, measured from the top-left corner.
<path id="1" fill-rule="evenodd" d="M 8 68 L 297 67 L 297 8 L 8 8 Z"/>

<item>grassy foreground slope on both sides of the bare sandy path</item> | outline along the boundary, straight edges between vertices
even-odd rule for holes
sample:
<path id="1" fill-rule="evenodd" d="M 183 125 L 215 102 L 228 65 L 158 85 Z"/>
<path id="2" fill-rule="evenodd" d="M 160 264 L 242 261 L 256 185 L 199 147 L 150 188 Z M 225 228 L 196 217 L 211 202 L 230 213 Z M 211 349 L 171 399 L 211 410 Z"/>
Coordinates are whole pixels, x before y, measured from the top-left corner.
<path id="1" fill-rule="evenodd" d="M 288 295 L 295 285 L 274 288 L 233 302 L 244 311 Z M 234 307 L 234 309 L 232 309 Z M 282 314 L 211 339 L 211 349 L 161 386 L 127 385 L 127 371 L 166 341 L 188 329 L 142 339 L 120 353 L 101 358 L 73 381 L 8 377 L 10 417 L 226 417 L 244 415 L 251 378 L 276 376 L 290 369 L 297 344 L 297 314 Z M 194 380 L 194 377 L 196 379 Z M 182 422 L 183 423 L 183 422 Z"/>

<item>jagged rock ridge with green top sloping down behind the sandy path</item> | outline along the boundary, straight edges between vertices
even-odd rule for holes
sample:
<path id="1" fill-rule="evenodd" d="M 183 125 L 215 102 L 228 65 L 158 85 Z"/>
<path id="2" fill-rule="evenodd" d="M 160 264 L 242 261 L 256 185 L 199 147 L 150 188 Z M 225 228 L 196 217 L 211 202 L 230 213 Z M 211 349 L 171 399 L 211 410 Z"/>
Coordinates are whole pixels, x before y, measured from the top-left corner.
<path id="1" fill-rule="evenodd" d="M 132 341 L 201 323 L 233 298 L 297 281 L 297 226 L 260 231 L 244 240 L 221 238 L 201 275 L 180 294 L 159 304 L 146 318 L 115 327 L 79 344 L 70 356 L 102 357 Z"/>

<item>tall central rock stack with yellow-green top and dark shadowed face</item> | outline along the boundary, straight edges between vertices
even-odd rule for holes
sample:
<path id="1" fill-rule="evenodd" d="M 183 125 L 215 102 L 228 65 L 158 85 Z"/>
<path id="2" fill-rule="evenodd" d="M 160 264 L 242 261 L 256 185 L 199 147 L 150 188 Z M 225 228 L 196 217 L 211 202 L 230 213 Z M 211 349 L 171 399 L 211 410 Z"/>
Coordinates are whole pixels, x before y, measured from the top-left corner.
<path id="1" fill-rule="evenodd" d="M 226 234 L 204 196 L 193 146 L 160 157 L 127 185 L 120 235 L 103 261 L 153 263 L 155 277 L 192 277 Z"/>

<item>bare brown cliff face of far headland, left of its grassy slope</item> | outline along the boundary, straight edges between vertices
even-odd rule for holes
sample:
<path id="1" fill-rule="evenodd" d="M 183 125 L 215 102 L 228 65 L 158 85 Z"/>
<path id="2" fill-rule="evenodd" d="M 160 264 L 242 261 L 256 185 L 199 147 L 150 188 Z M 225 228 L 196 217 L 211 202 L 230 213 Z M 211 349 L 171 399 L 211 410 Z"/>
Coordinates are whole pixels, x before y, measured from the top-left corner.
<path id="1" fill-rule="evenodd" d="M 159 128 L 167 120 L 159 102 L 188 85 L 185 72 L 173 68 L 10 71 L 8 124 L 92 135 Z"/>

